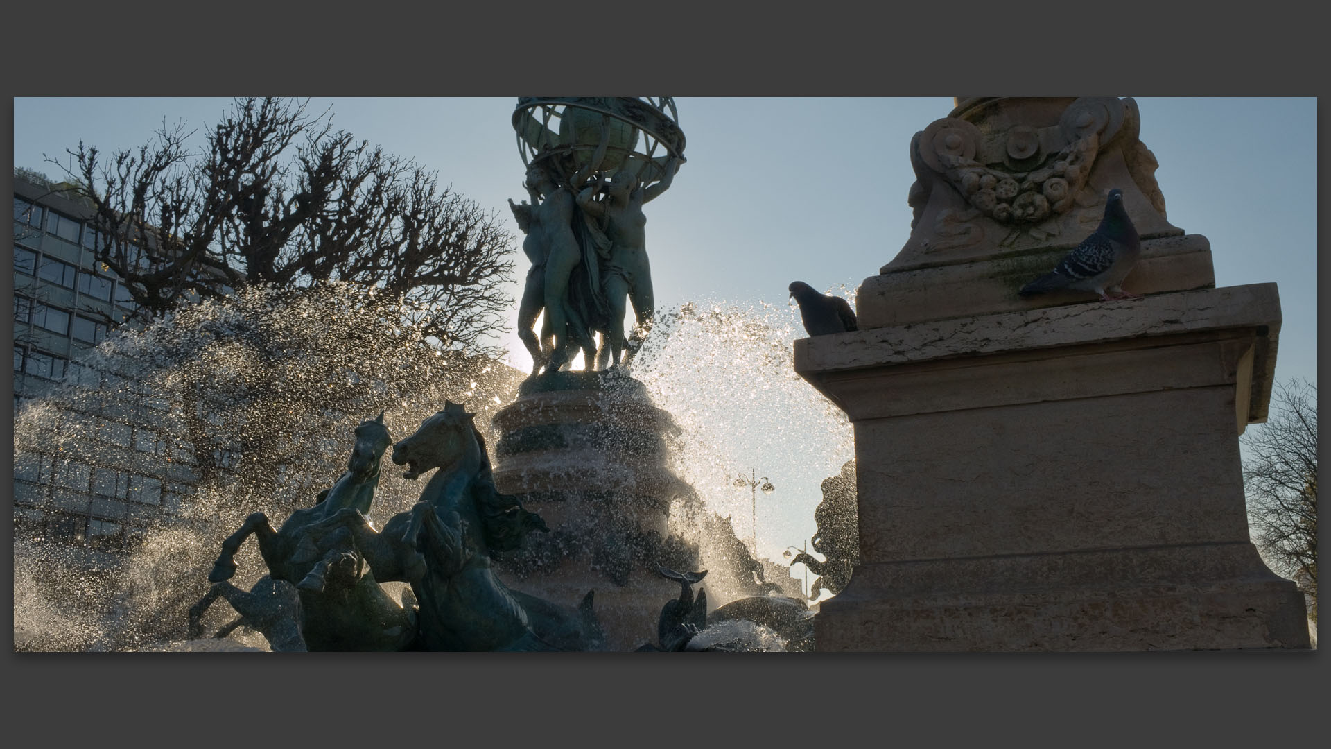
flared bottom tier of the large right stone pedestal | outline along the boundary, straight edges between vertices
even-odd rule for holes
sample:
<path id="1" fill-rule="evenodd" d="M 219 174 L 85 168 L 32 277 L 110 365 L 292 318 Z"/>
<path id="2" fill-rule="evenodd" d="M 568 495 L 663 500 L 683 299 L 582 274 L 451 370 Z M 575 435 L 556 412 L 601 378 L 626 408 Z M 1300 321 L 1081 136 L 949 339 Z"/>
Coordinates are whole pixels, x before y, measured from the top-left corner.
<path id="1" fill-rule="evenodd" d="M 1251 544 L 860 565 L 815 628 L 823 652 L 1308 646 L 1302 596 Z"/>

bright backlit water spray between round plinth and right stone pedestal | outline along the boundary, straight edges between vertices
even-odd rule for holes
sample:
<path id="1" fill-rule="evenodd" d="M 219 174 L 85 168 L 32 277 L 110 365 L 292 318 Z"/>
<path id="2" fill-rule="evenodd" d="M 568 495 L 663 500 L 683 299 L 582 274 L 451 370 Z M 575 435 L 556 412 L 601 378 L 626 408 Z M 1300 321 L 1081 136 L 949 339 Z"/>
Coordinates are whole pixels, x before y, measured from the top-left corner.
<path id="1" fill-rule="evenodd" d="M 634 363 L 634 376 L 680 428 L 676 473 L 709 512 L 729 517 L 735 536 L 757 536 L 760 558 L 781 558 L 815 533 L 821 481 L 855 456 L 845 414 L 793 371 L 792 341 L 803 336 L 793 305 L 691 303 L 662 317 Z M 776 486 L 756 493 L 756 529 L 753 488 L 736 485 L 751 469 Z M 680 502 L 671 522 L 701 545 L 709 602 L 739 597 L 733 565 L 723 562 L 743 552 L 716 542 L 725 533 Z"/>

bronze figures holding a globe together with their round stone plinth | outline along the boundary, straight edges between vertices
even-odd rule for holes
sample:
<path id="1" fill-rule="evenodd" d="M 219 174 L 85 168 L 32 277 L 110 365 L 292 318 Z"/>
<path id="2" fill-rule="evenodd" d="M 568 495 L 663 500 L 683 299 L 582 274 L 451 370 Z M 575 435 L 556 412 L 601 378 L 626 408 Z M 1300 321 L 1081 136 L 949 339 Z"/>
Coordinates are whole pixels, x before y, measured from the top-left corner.
<path id="1" fill-rule="evenodd" d="M 656 569 L 699 568 L 696 545 L 668 526 L 673 502 L 696 501 L 669 466 L 667 438 L 677 429 L 628 374 L 654 324 L 643 204 L 672 184 L 684 135 L 669 99 L 522 99 L 512 121 L 531 199 L 514 207 L 532 261 L 519 335 L 543 372 L 494 417 L 495 484 L 556 529 L 500 569 L 551 600 L 595 588 L 607 646 L 632 649 L 671 594 Z M 627 340 L 626 299 L 639 323 Z M 572 348 L 583 371 L 568 371 Z"/>

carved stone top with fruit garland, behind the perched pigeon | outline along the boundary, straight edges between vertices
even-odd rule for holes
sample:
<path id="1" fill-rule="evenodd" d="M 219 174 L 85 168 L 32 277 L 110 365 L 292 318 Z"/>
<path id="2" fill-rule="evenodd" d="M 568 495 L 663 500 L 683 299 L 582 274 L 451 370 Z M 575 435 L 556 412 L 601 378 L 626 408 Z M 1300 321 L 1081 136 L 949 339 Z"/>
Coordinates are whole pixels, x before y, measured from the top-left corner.
<path id="1" fill-rule="evenodd" d="M 1214 287 L 1205 237 L 1182 237 L 1165 217 L 1139 120 L 1131 99 L 960 101 L 910 144 L 910 237 L 880 276 L 864 281 L 860 328 L 1094 299 L 1073 292 L 1021 299 L 1016 291 L 1095 229 L 1114 188 L 1143 240 L 1125 289 Z"/>

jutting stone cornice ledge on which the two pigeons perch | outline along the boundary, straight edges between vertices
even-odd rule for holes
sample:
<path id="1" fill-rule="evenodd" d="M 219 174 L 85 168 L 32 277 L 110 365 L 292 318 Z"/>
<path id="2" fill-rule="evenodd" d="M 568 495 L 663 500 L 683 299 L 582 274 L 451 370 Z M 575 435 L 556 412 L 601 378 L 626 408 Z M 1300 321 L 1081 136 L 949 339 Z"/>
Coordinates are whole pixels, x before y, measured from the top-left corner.
<path id="1" fill-rule="evenodd" d="M 1229 336 L 1233 329 L 1250 331 L 1251 345 L 1243 345 L 1243 336 L 1236 336 L 1239 343 L 1218 349 L 1215 356 L 1210 349 L 1189 348 L 1217 340 L 1222 331 Z M 1244 425 L 1266 418 L 1279 329 L 1275 284 L 1254 284 L 804 339 L 795 343 L 795 369 L 858 420 L 1215 384 L 1218 374 L 1183 361 L 1169 365 L 1169 360 L 1201 357 L 1217 372 L 1227 369 L 1236 377 L 1238 360 L 1251 355 L 1250 367 L 1242 372 L 1251 377 L 1251 396 L 1235 406 L 1242 433 Z M 1141 339 L 1146 337 L 1163 339 L 1177 348 L 1166 352 L 1157 351 L 1154 343 L 1143 347 Z M 1066 351 L 1050 356 L 1053 349 Z M 1041 351 L 1045 353 L 1037 353 Z M 1110 355 L 1107 360 L 1097 359 Z M 1217 359 L 1221 355 L 1227 359 Z M 893 367 L 890 373 L 881 371 L 888 365 Z M 1086 376 L 1106 367 L 1114 367 L 1114 377 Z M 984 380 L 973 381 L 978 372 Z M 892 377 L 890 396 L 858 397 L 853 402 L 843 397 L 866 388 L 874 390 L 878 377 Z M 921 388 L 918 401 L 910 400 L 916 388 Z M 1246 414 L 1242 421 L 1239 412 Z"/>

